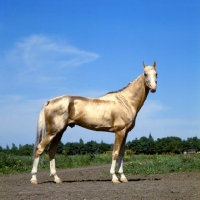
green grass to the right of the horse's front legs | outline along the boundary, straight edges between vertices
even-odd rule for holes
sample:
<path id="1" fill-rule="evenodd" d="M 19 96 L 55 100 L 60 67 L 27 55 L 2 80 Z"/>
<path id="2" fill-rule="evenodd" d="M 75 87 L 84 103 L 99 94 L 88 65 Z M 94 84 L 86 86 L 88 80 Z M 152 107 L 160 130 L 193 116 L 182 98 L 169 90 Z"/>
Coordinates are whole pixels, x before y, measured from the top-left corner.
<path id="1" fill-rule="evenodd" d="M 127 162 L 127 174 L 163 174 L 170 172 L 200 172 L 200 155 L 143 155 Z"/>

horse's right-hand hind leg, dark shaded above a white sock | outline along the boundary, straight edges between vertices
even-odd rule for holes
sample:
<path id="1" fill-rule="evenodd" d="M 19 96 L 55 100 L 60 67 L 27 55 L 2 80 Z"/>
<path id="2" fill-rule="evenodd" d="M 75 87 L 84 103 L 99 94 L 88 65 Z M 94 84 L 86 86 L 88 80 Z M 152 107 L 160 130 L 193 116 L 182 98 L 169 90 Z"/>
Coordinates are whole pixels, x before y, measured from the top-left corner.
<path id="1" fill-rule="evenodd" d="M 52 140 L 48 152 L 49 152 L 49 159 L 50 159 L 50 176 L 54 176 L 54 182 L 61 183 L 61 179 L 56 174 L 56 165 L 55 165 L 55 154 L 56 154 L 56 148 L 62 138 L 63 133 L 59 133 L 55 136 L 55 138 Z"/>

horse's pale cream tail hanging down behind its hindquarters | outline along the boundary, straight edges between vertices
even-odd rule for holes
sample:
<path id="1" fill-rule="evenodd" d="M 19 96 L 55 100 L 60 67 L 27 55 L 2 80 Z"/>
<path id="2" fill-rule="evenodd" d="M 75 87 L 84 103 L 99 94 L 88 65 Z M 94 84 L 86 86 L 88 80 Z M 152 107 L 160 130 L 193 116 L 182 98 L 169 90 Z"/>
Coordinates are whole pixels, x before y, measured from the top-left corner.
<path id="1" fill-rule="evenodd" d="M 46 133 L 46 123 L 45 123 L 45 116 L 44 116 L 45 106 L 46 104 L 42 107 L 39 117 L 38 117 L 36 141 L 35 141 L 35 146 L 33 150 L 33 155 L 35 155 L 37 145 L 42 141 L 42 138 L 44 137 Z"/>

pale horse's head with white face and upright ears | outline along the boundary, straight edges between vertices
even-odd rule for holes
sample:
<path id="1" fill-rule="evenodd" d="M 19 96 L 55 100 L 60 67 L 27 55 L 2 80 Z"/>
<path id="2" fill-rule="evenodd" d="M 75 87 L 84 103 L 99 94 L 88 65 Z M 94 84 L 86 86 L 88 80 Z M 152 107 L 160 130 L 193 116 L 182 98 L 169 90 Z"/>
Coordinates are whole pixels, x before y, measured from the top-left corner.
<path id="1" fill-rule="evenodd" d="M 157 72 L 156 72 L 156 62 L 154 61 L 153 66 L 146 66 L 143 62 L 144 67 L 144 77 L 146 85 L 151 92 L 156 91 L 157 87 Z"/>

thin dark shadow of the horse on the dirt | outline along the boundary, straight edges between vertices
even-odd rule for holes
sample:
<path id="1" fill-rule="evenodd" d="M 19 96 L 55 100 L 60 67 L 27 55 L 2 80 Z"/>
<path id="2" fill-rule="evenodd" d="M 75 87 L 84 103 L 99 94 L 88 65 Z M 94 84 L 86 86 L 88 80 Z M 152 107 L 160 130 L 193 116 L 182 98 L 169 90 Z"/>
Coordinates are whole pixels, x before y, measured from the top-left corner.
<path id="1" fill-rule="evenodd" d="M 161 180 L 161 178 L 130 178 L 128 179 L 128 182 L 147 181 L 147 180 L 159 181 Z M 62 181 L 62 183 L 81 183 L 81 182 L 111 182 L 111 179 L 83 179 L 83 180 Z M 40 182 L 38 184 L 47 184 L 47 183 L 56 184 L 54 181 L 49 181 L 49 180 Z"/>

